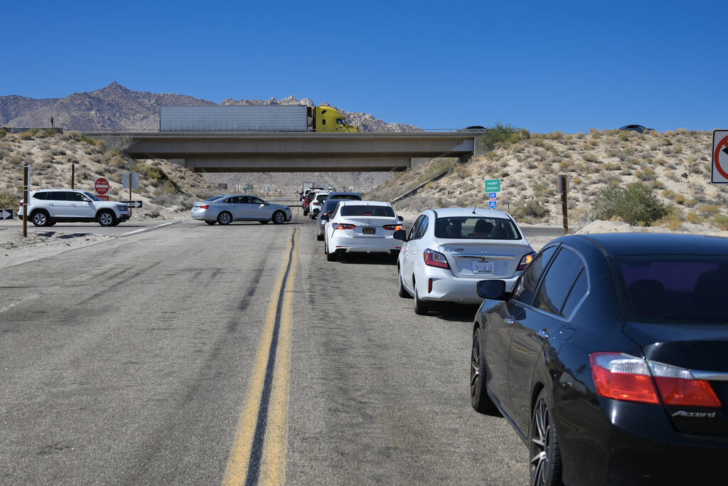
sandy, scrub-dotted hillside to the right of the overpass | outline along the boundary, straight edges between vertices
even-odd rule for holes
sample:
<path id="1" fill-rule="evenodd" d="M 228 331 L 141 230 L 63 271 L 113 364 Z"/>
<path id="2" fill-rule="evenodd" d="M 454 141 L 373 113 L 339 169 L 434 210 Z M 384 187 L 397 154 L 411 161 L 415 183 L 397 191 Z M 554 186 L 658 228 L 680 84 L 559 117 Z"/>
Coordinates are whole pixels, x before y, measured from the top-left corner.
<path id="1" fill-rule="evenodd" d="M 590 133 L 529 134 L 500 144 L 464 165 L 434 160 L 397 173 L 367 197 L 393 200 L 451 168 L 411 197 L 395 203 L 397 211 L 453 206 L 487 208 L 485 179 L 500 179 L 497 208 L 519 221 L 561 224 L 558 175 L 569 178 L 569 221 L 588 224 L 606 187 L 639 182 L 651 189 L 669 214 L 657 224 L 689 229 L 691 224 L 728 230 L 728 184 L 711 184 L 711 132 L 636 133 L 596 130 Z"/>

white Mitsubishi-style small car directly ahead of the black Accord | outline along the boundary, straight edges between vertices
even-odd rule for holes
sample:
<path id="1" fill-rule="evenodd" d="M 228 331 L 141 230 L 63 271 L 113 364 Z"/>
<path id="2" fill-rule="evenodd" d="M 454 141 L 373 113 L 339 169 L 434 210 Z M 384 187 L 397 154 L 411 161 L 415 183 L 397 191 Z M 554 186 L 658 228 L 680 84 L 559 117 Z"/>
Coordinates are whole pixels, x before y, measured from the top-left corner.
<path id="1" fill-rule="evenodd" d="M 400 297 L 428 302 L 479 304 L 478 281 L 498 279 L 511 291 L 534 249 L 513 218 L 502 211 L 446 208 L 423 211 L 404 238 L 397 259 Z"/>

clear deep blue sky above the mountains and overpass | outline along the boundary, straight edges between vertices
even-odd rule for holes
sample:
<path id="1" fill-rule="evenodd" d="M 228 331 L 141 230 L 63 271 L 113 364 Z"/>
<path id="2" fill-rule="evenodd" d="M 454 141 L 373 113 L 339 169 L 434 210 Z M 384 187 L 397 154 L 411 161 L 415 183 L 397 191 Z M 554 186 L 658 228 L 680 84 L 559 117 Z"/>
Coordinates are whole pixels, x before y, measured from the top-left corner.
<path id="1" fill-rule="evenodd" d="M 0 34 L 0 95 L 117 81 L 422 128 L 728 127 L 725 0 L 10 1 Z"/>

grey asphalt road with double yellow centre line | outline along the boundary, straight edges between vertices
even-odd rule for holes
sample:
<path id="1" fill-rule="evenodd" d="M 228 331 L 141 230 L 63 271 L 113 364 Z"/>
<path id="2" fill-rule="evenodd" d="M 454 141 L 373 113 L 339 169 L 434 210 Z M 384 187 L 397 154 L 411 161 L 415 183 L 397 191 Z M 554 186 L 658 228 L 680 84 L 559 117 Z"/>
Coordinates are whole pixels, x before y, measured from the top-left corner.
<path id="1" fill-rule="evenodd" d="M 415 315 L 396 282 L 327 262 L 301 217 L 7 269 L 0 483 L 526 483 L 513 429 L 470 407 L 475 308 Z"/>

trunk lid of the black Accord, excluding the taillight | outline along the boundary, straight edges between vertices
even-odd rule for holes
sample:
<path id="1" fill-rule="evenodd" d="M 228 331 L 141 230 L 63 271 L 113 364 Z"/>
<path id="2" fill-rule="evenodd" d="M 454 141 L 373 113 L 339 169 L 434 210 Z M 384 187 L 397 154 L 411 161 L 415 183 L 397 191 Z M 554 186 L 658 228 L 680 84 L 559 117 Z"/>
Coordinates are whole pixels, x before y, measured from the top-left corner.
<path id="1" fill-rule="evenodd" d="M 728 435 L 728 337 L 726 324 L 628 322 L 624 332 L 645 358 L 689 369 L 707 380 L 721 407 L 665 406 L 676 430 L 687 434 Z"/>

